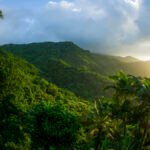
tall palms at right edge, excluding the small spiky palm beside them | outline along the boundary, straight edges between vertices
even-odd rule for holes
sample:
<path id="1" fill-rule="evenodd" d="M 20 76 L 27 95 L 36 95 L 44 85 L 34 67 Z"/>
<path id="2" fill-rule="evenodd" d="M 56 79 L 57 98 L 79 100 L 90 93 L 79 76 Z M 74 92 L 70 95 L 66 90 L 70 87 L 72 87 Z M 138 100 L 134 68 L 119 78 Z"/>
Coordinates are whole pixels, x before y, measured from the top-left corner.
<path id="1" fill-rule="evenodd" d="M 142 149 L 146 142 L 150 142 L 150 79 L 126 75 L 123 72 L 111 78 L 115 81 L 112 88 L 115 89 L 116 114 L 119 114 L 114 116 L 122 120 L 124 136 L 129 136 L 127 127 L 132 126 L 130 135 L 135 137 L 135 148 Z"/>

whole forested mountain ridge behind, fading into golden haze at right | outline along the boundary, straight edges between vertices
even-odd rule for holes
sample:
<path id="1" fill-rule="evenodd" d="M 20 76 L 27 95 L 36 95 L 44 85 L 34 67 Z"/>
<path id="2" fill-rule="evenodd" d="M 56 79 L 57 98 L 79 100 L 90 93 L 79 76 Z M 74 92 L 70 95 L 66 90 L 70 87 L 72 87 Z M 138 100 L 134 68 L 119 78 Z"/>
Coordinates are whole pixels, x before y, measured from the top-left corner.
<path id="1" fill-rule="evenodd" d="M 150 62 L 133 57 L 94 54 L 72 42 L 8 44 L 1 46 L 40 69 L 48 81 L 83 98 L 108 95 L 103 88 L 108 76 L 122 70 L 128 74 L 150 76 Z"/>

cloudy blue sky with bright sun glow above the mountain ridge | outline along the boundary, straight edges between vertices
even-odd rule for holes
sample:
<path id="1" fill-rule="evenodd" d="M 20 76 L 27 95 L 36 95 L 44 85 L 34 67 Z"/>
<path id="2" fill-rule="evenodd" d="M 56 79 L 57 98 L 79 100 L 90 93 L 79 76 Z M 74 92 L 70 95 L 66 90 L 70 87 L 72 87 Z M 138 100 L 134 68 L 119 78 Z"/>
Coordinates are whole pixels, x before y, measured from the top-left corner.
<path id="1" fill-rule="evenodd" d="M 72 41 L 150 60 L 150 0 L 0 0 L 0 44 Z"/>

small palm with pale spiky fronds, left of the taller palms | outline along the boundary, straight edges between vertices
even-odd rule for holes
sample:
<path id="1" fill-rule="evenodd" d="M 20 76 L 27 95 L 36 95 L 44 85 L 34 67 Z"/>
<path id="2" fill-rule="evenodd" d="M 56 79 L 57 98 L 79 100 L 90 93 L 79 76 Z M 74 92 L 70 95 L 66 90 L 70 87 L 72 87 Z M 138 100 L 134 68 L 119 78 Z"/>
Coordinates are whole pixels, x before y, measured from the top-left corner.
<path id="1" fill-rule="evenodd" d="M 108 103 L 109 101 L 109 103 Z M 94 149 L 99 150 L 113 139 L 114 124 L 111 116 L 111 100 L 101 98 L 95 101 L 93 126 L 90 134 L 94 138 Z M 109 144 L 106 144 L 109 147 Z"/>

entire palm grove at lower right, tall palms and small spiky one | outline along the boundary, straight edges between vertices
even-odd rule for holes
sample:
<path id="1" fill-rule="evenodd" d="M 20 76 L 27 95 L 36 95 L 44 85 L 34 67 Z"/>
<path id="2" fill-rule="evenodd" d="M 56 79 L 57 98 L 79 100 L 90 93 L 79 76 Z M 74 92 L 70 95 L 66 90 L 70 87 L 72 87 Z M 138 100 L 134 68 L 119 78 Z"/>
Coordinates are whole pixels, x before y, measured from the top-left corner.
<path id="1" fill-rule="evenodd" d="M 96 100 L 91 112 L 90 146 L 95 150 L 144 149 L 150 142 L 150 80 L 123 72 L 111 79 L 114 83 L 108 88 L 114 89 L 112 98 Z"/>

